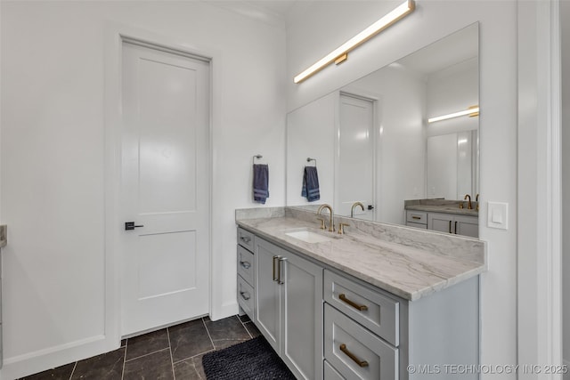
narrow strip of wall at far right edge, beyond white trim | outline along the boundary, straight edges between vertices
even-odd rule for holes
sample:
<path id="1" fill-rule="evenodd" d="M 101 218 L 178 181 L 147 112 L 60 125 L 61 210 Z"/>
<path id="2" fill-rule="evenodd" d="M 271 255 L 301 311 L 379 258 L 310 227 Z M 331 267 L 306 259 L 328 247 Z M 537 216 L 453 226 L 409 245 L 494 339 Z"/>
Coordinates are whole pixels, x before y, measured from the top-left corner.
<path id="1" fill-rule="evenodd" d="M 570 2 L 560 2 L 562 28 L 563 358 L 570 368 Z M 565 380 L 570 379 L 570 373 Z"/>

